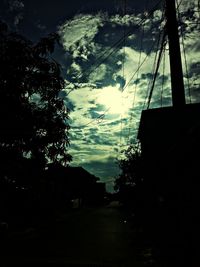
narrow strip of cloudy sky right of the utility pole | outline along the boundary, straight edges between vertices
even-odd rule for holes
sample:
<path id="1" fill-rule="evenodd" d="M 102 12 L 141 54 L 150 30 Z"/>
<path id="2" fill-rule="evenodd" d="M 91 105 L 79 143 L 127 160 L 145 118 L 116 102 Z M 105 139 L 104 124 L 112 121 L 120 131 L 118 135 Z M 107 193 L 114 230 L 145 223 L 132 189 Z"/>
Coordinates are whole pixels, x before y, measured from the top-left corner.
<path id="1" fill-rule="evenodd" d="M 180 27 L 182 30 L 181 52 L 184 71 L 184 85 L 188 103 L 200 101 L 197 90 L 200 84 L 200 43 L 199 43 L 199 1 L 181 1 L 179 5 Z M 189 76 L 189 80 L 188 80 Z M 188 87 L 189 85 L 189 87 Z"/>

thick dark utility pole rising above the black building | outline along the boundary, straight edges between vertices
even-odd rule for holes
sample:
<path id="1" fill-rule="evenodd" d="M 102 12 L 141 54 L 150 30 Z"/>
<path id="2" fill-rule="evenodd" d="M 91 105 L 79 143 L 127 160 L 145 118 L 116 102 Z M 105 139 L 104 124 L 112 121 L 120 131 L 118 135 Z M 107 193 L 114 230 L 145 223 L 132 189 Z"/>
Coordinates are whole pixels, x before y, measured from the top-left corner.
<path id="1" fill-rule="evenodd" d="M 165 2 L 167 34 L 169 40 L 172 103 L 174 108 L 181 109 L 185 105 L 185 91 L 178 34 L 178 23 L 176 18 L 176 5 L 175 0 L 165 0 Z"/>

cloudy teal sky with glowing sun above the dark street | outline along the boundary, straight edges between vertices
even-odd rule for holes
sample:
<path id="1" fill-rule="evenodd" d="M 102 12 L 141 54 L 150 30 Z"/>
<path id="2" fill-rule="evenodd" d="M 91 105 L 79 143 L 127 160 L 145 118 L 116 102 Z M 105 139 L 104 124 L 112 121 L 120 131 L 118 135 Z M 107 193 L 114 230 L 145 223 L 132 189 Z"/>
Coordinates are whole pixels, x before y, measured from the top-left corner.
<path id="1" fill-rule="evenodd" d="M 82 166 L 112 191 L 117 160 L 137 142 L 140 114 L 147 108 L 158 40 L 165 20 L 156 0 L 2 0 L 0 17 L 36 42 L 58 32 L 54 57 L 70 112 L 72 166 Z M 159 3 L 159 4 L 158 4 Z M 187 103 L 200 102 L 200 1 L 179 0 L 179 31 Z M 154 12 L 153 12 L 154 11 Z M 166 45 L 150 108 L 170 106 Z"/>

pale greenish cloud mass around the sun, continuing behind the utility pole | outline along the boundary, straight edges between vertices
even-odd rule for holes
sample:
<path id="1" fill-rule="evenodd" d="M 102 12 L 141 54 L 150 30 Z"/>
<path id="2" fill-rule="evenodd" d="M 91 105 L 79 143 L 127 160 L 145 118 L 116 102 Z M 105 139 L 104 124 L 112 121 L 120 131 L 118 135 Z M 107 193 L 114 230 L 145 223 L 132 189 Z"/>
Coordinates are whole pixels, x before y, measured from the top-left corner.
<path id="1" fill-rule="evenodd" d="M 117 175 L 119 169 L 114 162 L 121 157 L 121 150 L 136 140 L 141 110 L 146 108 L 151 89 L 157 54 L 152 43 L 157 43 L 163 27 L 162 12 L 155 11 L 151 19 L 145 20 L 142 39 L 142 27 L 136 26 L 143 15 L 80 14 L 59 28 L 70 57 L 66 61 L 63 98 L 73 107 L 70 115 L 73 164 L 82 165 L 104 181 L 112 181 Z M 130 31 L 125 43 L 119 41 L 115 49 L 113 44 L 123 37 L 124 27 L 133 32 Z M 185 37 L 185 49 L 192 101 L 197 102 L 199 42 L 196 31 L 194 35 L 193 32 L 187 32 L 190 38 Z M 151 108 L 171 105 L 167 51 L 157 75 Z"/>

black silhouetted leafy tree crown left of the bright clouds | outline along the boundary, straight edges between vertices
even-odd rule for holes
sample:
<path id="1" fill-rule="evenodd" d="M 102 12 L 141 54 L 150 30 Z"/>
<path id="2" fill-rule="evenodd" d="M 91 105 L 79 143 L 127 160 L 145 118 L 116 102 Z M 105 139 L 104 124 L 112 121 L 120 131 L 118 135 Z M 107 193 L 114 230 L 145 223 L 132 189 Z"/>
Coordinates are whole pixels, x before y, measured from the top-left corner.
<path id="1" fill-rule="evenodd" d="M 1 177 L 71 160 L 69 110 L 59 97 L 64 79 L 51 57 L 56 41 L 57 34 L 50 34 L 33 44 L 0 23 Z"/>

